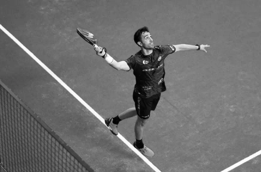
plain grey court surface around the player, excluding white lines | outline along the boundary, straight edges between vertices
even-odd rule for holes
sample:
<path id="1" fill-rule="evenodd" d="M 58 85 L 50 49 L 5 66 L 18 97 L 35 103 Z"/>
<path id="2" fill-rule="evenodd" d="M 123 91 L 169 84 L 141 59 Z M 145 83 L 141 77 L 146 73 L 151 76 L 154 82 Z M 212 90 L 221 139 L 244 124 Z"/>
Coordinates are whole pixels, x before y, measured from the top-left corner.
<path id="1" fill-rule="evenodd" d="M 0 24 L 102 118 L 133 107 L 132 70 L 117 71 L 76 33 L 96 34 L 116 60 L 139 47 L 148 26 L 155 45 L 209 44 L 165 60 L 167 91 L 144 130 L 148 158 L 162 172 L 220 172 L 261 150 L 261 1 L 9 0 Z M 28 53 L 0 30 L 0 79 L 97 172 L 153 169 Z M 136 118 L 120 122 L 131 144 Z M 231 168 L 261 170 L 261 157 Z"/>

